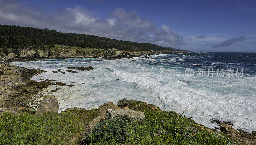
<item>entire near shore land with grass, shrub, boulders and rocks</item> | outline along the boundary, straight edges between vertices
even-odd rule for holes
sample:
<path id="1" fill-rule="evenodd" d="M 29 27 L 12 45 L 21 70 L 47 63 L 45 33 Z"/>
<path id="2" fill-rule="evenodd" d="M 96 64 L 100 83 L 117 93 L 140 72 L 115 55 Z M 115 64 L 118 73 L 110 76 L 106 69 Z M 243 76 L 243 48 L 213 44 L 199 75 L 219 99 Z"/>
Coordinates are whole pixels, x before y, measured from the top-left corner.
<path id="1" fill-rule="evenodd" d="M 66 73 L 72 73 L 72 69 L 91 71 L 94 68 L 69 67 Z M 218 132 L 182 113 L 163 111 L 137 100 L 121 99 L 117 105 L 109 102 L 98 109 L 74 107 L 57 113 L 58 100 L 53 95 L 42 96 L 41 89 L 49 85 L 61 87 L 66 83 L 30 80 L 40 73 L 47 72 L 0 63 L 0 144 L 249 145 L 256 142 L 255 131 L 248 133 L 239 129 L 238 132 L 232 126 L 219 122 L 222 132 Z M 34 95 L 42 99 L 36 102 Z M 36 106 L 29 105 L 31 102 Z"/>

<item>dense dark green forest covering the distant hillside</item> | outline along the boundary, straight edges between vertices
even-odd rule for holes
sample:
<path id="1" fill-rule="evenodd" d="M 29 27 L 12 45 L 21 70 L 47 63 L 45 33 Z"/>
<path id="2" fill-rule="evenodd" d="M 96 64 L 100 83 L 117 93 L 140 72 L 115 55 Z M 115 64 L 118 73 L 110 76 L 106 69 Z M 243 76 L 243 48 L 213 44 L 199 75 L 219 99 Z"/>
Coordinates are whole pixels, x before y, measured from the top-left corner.
<path id="1" fill-rule="evenodd" d="M 0 48 L 45 49 L 43 44 L 51 46 L 59 44 L 75 47 L 93 47 L 100 49 L 116 48 L 128 51 L 177 51 L 177 49 L 174 48 L 161 47 L 150 43 L 120 41 L 116 39 L 98 37 L 87 34 L 63 33 L 55 30 L 20 27 L 19 25 L 0 24 Z"/>

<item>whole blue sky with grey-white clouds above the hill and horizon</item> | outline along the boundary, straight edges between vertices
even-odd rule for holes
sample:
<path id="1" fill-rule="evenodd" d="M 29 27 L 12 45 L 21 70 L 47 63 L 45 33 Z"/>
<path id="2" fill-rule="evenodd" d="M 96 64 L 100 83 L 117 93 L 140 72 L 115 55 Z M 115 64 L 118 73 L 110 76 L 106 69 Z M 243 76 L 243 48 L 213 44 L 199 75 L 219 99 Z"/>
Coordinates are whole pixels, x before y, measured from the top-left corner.
<path id="1" fill-rule="evenodd" d="M 0 0 L 0 24 L 198 52 L 256 52 L 255 0 Z"/>

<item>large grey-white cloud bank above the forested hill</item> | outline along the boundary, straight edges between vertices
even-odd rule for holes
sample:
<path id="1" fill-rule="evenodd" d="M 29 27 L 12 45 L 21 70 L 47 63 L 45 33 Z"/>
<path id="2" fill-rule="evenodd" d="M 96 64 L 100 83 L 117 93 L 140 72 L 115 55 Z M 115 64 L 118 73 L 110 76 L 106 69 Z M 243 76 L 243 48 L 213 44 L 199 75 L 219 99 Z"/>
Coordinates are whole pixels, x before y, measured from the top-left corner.
<path id="1" fill-rule="evenodd" d="M 119 40 L 148 42 L 161 46 L 184 43 L 183 37 L 169 26 L 157 28 L 156 22 L 142 18 L 135 10 L 122 8 L 112 11 L 109 18 L 94 16 L 95 12 L 77 5 L 64 10 L 56 9 L 48 15 L 36 8 L 26 8 L 18 1 L 0 0 L 0 23 L 20 24 L 26 27 L 56 29 L 62 32 L 93 34 Z"/>

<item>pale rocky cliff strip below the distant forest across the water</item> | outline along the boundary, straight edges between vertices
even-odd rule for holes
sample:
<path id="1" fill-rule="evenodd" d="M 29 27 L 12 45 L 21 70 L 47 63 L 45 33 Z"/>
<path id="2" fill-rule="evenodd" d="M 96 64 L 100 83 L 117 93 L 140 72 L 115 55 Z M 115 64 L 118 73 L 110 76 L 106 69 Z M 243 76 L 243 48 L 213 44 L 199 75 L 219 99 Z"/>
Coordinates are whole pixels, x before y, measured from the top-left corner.
<path id="1" fill-rule="evenodd" d="M 180 52 L 180 51 L 124 51 L 118 49 L 108 50 L 64 50 L 64 49 L 50 49 L 50 50 L 20 50 L 19 53 L 4 54 L 0 52 L 0 61 L 12 62 L 12 61 L 35 61 L 36 59 L 67 59 L 67 58 L 107 58 L 107 59 L 122 59 L 140 57 L 141 55 L 154 55 L 158 53 L 163 54 L 198 54 L 195 52 Z"/>

